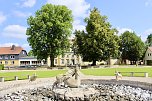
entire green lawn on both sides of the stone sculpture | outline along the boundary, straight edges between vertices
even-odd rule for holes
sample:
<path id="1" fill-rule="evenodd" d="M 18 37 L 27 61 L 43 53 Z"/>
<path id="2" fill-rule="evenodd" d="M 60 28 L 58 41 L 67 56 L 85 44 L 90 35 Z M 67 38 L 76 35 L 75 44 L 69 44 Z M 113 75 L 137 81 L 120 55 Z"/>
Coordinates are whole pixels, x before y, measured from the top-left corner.
<path id="1" fill-rule="evenodd" d="M 27 70 L 16 72 L 0 72 L 0 77 L 5 77 L 5 81 L 14 80 L 14 76 L 18 76 L 20 80 L 27 79 L 27 75 L 32 76 L 36 73 L 38 78 L 49 78 L 59 74 L 64 74 L 67 70 Z M 85 75 L 94 76 L 114 76 L 115 71 L 120 72 L 148 72 L 149 77 L 152 77 L 152 68 L 150 67 L 129 67 L 129 68 L 93 68 L 93 69 L 81 69 Z M 123 76 L 130 76 L 130 74 L 122 74 Z M 136 77 L 143 77 L 144 74 L 135 74 Z"/>

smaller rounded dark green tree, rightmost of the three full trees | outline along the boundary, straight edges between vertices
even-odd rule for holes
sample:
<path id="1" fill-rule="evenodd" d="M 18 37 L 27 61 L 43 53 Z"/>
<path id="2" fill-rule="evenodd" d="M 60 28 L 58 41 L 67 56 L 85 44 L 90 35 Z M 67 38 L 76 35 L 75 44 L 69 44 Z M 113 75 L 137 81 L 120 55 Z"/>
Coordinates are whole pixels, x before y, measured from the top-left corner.
<path id="1" fill-rule="evenodd" d="M 145 44 L 134 32 L 126 31 L 120 36 L 120 51 L 124 62 L 130 60 L 131 64 L 139 61 L 145 51 Z"/>

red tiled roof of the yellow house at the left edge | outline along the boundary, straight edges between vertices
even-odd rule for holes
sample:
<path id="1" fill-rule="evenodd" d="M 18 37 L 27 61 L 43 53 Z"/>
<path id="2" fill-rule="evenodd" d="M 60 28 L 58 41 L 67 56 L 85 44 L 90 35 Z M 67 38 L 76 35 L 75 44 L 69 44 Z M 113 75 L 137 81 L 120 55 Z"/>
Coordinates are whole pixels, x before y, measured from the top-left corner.
<path id="1" fill-rule="evenodd" d="M 14 49 L 12 49 L 12 47 L 0 47 L 0 54 L 20 54 L 22 50 L 22 47 L 17 46 L 15 46 Z"/>

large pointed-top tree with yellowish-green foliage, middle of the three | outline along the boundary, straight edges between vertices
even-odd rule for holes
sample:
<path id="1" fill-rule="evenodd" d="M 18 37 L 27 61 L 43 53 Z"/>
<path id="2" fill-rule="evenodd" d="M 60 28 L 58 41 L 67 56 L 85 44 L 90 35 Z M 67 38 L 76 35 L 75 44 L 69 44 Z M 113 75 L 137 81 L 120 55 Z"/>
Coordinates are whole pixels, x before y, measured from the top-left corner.
<path id="1" fill-rule="evenodd" d="M 92 61 L 96 65 L 98 60 L 107 60 L 118 53 L 117 31 L 111 28 L 106 16 L 100 15 L 97 8 L 90 12 L 85 19 L 86 32 L 75 31 L 77 52 L 84 61 Z"/>

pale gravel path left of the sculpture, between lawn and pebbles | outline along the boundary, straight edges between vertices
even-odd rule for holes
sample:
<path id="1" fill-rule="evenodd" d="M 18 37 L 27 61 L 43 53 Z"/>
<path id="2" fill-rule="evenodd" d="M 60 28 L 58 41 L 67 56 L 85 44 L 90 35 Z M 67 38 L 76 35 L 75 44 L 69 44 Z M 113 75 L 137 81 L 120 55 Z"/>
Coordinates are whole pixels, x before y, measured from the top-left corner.
<path id="1" fill-rule="evenodd" d="M 36 81 L 29 80 L 7 81 L 0 83 L 0 96 L 23 89 L 33 89 L 41 86 L 52 85 L 55 78 L 39 78 Z"/>

